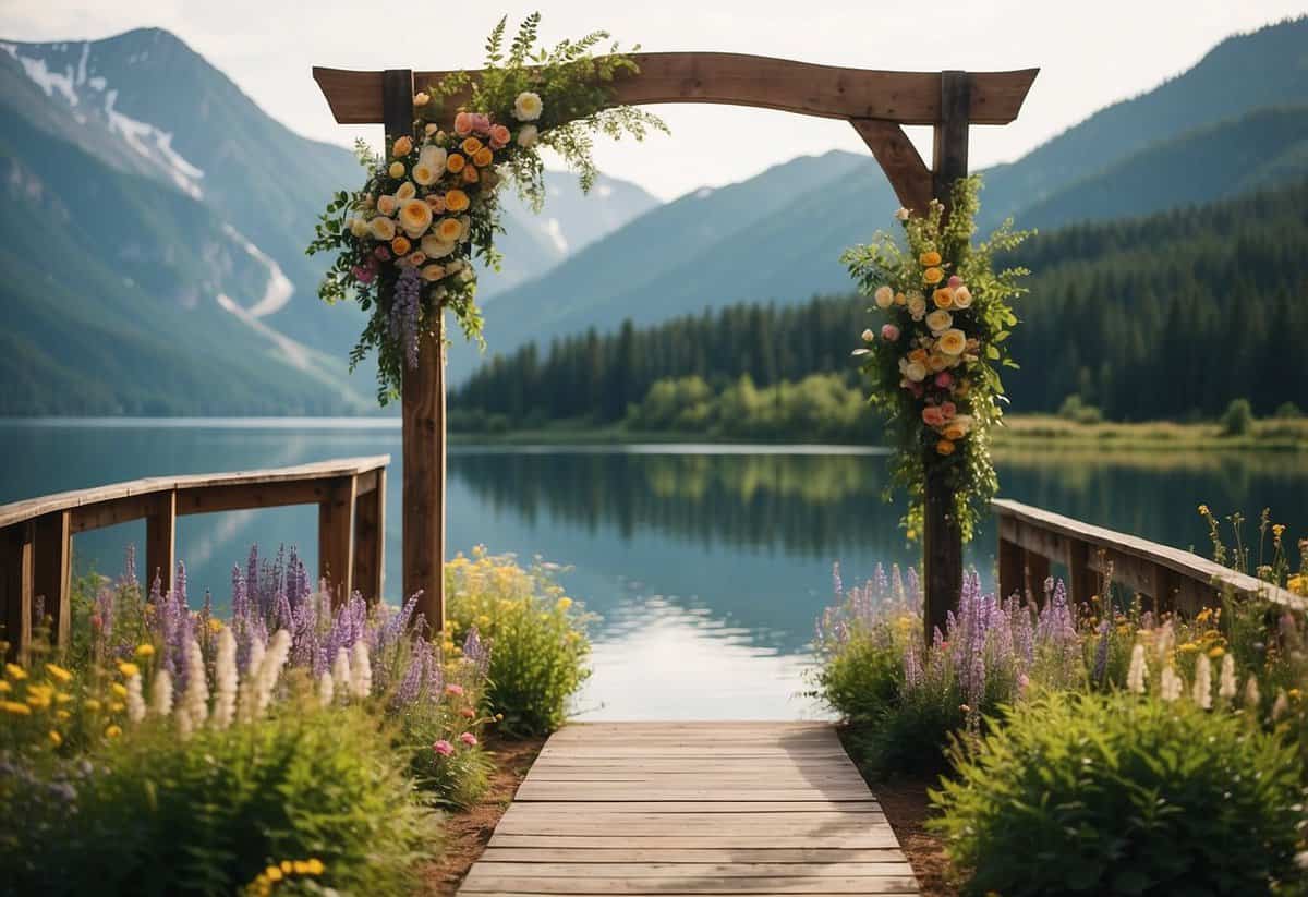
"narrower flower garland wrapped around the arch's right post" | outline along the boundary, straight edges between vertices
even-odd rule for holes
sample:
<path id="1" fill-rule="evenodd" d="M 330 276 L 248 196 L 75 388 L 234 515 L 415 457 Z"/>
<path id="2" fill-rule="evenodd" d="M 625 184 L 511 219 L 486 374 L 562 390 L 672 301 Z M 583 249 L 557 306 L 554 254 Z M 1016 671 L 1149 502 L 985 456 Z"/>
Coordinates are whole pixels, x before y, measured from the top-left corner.
<path id="1" fill-rule="evenodd" d="M 963 537 L 998 489 L 988 430 L 999 422 L 1001 367 L 1016 367 L 1006 340 L 1018 324 L 1008 299 L 1025 292 L 1024 268 L 994 271 L 995 252 L 1029 235 L 1006 221 L 989 241 L 972 245 L 978 178 L 955 184 L 952 212 L 933 200 L 926 216 L 900 209 L 906 250 L 889 234 L 855 246 L 842 262 L 872 298 L 879 327 L 863 331 L 862 370 L 871 378 L 870 404 L 887 417 L 897 441 L 891 486 L 909 494 L 904 526 L 922 526 L 927 477 L 942 477 L 955 496 Z"/>

